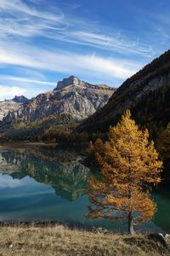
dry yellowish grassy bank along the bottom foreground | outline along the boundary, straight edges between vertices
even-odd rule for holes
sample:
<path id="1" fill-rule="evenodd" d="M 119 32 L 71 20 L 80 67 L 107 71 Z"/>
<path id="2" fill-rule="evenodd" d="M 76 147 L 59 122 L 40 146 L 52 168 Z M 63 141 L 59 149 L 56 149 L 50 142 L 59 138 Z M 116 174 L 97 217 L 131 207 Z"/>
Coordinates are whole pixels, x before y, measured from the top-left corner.
<path id="1" fill-rule="evenodd" d="M 22 224 L 0 227 L 0 255 L 169 255 L 147 236 L 71 230 L 62 225 Z"/>

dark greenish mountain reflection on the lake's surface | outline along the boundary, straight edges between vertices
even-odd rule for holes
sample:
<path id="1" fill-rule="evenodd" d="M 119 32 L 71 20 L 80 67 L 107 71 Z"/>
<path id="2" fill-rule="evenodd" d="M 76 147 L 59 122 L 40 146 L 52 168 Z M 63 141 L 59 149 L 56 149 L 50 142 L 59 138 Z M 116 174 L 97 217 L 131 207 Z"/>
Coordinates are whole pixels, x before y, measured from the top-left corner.
<path id="1" fill-rule="evenodd" d="M 0 172 L 17 179 L 33 177 L 53 187 L 61 198 L 75 201 L 84 194 L 90 175 L 81 160 L 76 149 L 11 148 L 0 154 Z"/>

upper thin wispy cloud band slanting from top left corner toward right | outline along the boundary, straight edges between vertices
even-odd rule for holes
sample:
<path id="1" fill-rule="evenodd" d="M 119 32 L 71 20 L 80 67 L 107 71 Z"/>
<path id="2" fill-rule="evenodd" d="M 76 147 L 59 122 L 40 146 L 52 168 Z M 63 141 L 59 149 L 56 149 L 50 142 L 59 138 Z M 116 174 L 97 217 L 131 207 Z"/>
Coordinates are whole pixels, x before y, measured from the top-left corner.
<path id="1" fill-rule="evenodd" d="M 70 18 L 58 8 L 53 9 L 53 12 L 42 12 L 36 7 L 30 7 L 20 0 L 0 0 L 0 32 L 3 37 L 43 37 L 71 44 L 89 45 L 122 55 L 154 55 L 148 44 L 132 41 L 117 32 L 115 35 L 113 32 L 106 32 L 105 27 L 90 24 L 87 20 Z M 7 13 L 10 14 L 8 18 L 5 15 Z M 99 30 L 101 33 L 96 32 Z"/>

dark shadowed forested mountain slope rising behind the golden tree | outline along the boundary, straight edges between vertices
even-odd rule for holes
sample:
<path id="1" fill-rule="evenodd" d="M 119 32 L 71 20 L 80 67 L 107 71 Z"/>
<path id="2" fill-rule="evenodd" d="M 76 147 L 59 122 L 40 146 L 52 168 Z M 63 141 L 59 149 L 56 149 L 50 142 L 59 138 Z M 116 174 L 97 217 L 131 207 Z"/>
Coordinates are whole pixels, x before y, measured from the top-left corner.
<path id="1" fill-rule="evenodd" d="M 126 109 L 153 136 L 170 121 L 170 50 L 133 77 L 127 79 L 99 109 L 77 128 L 77 131 L 108 131 Z"/>

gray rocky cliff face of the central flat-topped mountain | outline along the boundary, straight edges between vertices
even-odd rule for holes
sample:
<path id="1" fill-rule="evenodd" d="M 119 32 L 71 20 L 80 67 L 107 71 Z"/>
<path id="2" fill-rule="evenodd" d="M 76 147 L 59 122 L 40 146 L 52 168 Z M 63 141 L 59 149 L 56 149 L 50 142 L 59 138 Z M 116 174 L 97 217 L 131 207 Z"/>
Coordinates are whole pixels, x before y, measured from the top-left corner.
<path id="1" fill-rule="evenodd" d="M 53 91 L 42 93 L 21 106 L 17 111 L 8 113 L 3 123 L 13 120 L 22 123 L 33 122 L 50 115 L 62 113 L 71 115 L 74 120 L 86 119 L 108 102 L 115 91 L 105 84 L 88 84 L 74 76 L 59 81 Z"/>

